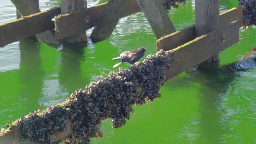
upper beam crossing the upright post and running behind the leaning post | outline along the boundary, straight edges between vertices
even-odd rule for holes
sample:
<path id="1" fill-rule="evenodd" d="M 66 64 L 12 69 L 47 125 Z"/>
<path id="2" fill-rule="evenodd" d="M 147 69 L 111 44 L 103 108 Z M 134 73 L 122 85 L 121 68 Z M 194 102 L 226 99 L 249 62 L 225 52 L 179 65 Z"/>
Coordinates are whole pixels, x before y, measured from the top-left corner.
<path id="1" fill-rule="evenodd" d="M 119 19 L 141 11 L 136 0 L 126 0 L 125 2 L 129 3 L 129 7 L 123 8 L 119 15 Z M 100 20 L 100 16 L 106 5 L 107 3 L 103 3 L 77 13 L 57 16 L 55 19 L 56 38 L 66 38 L 80 31 L 85 31 L 94 27 L 96 21 Z"/>

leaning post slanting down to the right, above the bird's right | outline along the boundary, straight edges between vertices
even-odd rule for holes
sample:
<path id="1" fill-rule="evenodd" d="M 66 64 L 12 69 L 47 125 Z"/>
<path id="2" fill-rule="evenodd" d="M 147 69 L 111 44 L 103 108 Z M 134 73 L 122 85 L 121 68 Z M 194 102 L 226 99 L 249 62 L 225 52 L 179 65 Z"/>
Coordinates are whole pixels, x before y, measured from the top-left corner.
<path id="1" fill-rule="evenodd" d="M 161 1 L 159 0 L 136 0 L 147 17 L 149 25 L 152 27 L 156 38 L 161 38 L 167 34 L 176 32 L 172 22 Z"/>

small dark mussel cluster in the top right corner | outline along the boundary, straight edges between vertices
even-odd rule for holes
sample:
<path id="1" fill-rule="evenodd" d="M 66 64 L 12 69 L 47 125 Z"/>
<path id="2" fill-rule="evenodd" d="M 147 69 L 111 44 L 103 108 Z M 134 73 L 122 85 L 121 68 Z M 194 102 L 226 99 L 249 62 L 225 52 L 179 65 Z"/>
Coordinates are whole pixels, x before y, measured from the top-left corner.
<path id="1" fill-rule="evenodd" d="M 243 10 L 243 23 L 245 28 L 251 25 L 256 26 L 256 1 L 255 0 L 238 0 L 239 4 L 245 5 Z"/>

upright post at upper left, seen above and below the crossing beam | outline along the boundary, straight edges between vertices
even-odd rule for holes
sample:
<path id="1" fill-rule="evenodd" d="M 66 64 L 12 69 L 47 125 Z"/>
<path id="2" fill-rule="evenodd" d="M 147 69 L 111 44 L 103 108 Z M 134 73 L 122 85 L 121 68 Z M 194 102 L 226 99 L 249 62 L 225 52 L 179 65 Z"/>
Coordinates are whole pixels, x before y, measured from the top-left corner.
<path id="1" fill-rule="evenodd" d="M 61 0 L 61 14 L 76 13 L 87 9 L 86 0 Z M 86 31 L 74 34 L 64 39 L 67 43 L 87 41 Z"/>

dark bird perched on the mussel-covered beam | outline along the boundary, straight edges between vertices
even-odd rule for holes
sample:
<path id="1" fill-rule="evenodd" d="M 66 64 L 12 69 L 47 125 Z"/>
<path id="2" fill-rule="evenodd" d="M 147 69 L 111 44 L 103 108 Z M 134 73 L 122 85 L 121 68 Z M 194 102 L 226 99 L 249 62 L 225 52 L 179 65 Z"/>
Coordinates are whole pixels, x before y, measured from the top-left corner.
<path id="1" fill-rule="evenodd" d="M 121 61 L 115 64 L 113 68 L 117 67 L 119 64 L 124 62 L 129 62 L 130 64 L 137 62 L 139 59 L 141 59 L 144 56 L 145 51 L 147 51 L 147 49 L 145 49 L 144 47 L 139 47 L 139 49 L 137 50 L 125 51 L 121 53 L 119 57 L 115 57 L 112 59 L 112 60 L 121 59 Z"/>

